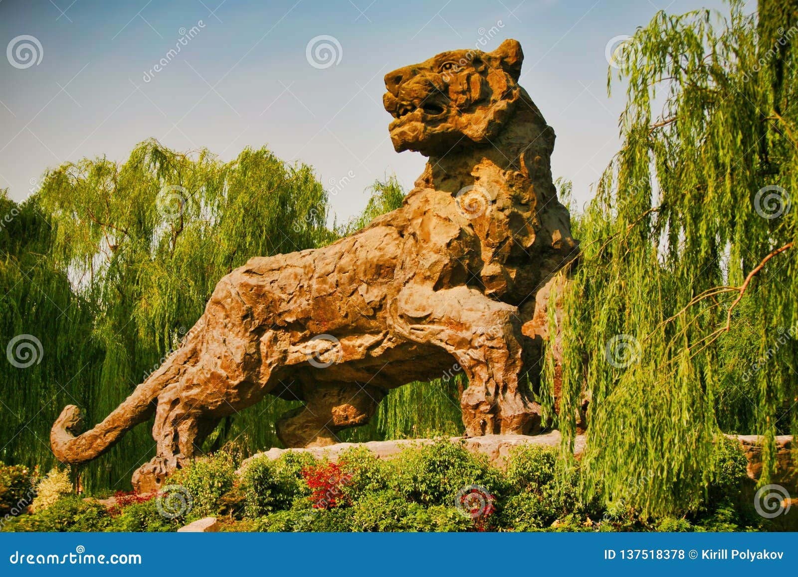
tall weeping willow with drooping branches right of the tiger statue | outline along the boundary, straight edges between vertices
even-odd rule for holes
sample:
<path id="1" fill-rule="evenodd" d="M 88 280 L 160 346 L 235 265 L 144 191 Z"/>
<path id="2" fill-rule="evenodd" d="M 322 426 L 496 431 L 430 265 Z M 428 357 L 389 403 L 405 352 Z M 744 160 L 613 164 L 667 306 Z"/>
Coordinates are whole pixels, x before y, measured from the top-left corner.
<path id="1" fill-rule="evenodd" d="M 660 12 L 615 54 L 622 149 L 563 294 L 559 426 L 570 445 L 587 393 L 588 494 L 678 512 L 721 424 L 764 435 L 763 484 L 798 429 L 796 23 L 795 0 Z"/>

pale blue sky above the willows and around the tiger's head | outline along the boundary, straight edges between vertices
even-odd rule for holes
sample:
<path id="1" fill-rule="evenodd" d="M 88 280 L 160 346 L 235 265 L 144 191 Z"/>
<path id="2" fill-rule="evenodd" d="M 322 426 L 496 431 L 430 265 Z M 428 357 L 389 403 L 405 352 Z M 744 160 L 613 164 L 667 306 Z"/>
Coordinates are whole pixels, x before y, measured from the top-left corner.
<path id="1" fill-rule="evenodd" d="M 658 9 L 725 11 L 720 0 L 219 2 L 0 0 L 0 188 L 22 200 L 45 168 L 124 160 L 150 136 L 224 160 L 267 144 L 312 165 L 346 219 L 375 178 L 396 172 L 409 189 L 425 163 L 393 152 L 385 73 L 480 38 L 488 50 L 516 38 L 521 84 L 557 133 L 553 172 L 573 180 L 582 203 L 618 148 L 623 90 L 606 97 L 607 42 Z M 192 26 L 194 38 L 168 55 Z M 14 53 L 30 42 L 14 43 L 22 35 L 41 45 L 41 61 L 26 68 Z M 340 45 L 326 68 L 306 57 L 320 35 Z"/>

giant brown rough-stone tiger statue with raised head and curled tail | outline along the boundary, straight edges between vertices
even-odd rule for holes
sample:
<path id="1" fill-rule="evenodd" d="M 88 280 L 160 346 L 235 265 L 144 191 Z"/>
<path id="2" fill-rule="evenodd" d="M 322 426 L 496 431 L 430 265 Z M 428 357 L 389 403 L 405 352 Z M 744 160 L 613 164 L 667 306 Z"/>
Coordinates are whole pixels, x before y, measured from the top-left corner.
<path id="1" fill-rule="evenodd" d="M 539 430 L 543 290 L 576 252 L 556 198 L 554 131 L 518 85 L 516 41 L 458 50 L 385 76 L 397 151 L 429 156 L 396 211 L 327 247 L 257 257 L 219 281 L 168 361 L 77 437 L 67 406 L 53 452 L 79 464 L 155 414 L 157 454 L 140 492 L 194 458 L 223 417 L 267 394 L 305 401 L 283 417 L 286 446 L 323 446 L 364 425 L 389 389 L 459 366 L 470 437 Z"/>

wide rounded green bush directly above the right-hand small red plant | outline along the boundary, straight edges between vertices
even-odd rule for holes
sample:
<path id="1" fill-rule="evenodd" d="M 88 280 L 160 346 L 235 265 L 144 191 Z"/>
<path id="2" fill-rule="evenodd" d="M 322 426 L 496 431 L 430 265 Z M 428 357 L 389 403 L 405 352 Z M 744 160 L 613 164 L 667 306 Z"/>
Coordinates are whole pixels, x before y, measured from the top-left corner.
<path id="1" fill-rule="evenodd" d="M 465 441 L 437 439 L 431 445 L 405 449 L 389 464 L 387 488 L 423 505 L 453 506 L 457 492 L 472 484 L 496 498 L 508 489 L 504 475 L 490 466 L 488 457 L 468 452 Z"/>

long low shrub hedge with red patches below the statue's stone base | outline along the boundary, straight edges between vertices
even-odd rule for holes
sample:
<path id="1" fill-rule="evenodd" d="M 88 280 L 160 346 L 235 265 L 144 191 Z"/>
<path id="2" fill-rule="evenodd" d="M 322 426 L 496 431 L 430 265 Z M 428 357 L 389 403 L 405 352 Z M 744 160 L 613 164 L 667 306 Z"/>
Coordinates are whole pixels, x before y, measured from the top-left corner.
<path id="1" fill-rule="evenodd" d="M 198 460 L 168 479 L 184 507 L 164 515 L 164 496 L 124 496 L 117 506 L 62 496 L 49 508 L 10 517 L 4 531 L 175 531 L 203 516 L 224 531 L 745 531 L 771 528 L 743 499 L 746 460 L 721 443 L 714 480 L 683 511 L 643 518 L 622 500 L 583 499 L 579 462 L 555 449 L 520 446 L 502 471 L 464 443 L 440 439 L 381 459 L 348 449 L 337 463 L 307 453 L 251 460 L 239 476 L 235 453 Z M 23 482 L 24 479 L 24 482 Z M 30 488 L 30 472 L 0 465 L 0 504 Z M 749 485 L 750 488 L 750 485 Z"/>

